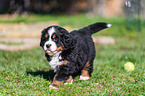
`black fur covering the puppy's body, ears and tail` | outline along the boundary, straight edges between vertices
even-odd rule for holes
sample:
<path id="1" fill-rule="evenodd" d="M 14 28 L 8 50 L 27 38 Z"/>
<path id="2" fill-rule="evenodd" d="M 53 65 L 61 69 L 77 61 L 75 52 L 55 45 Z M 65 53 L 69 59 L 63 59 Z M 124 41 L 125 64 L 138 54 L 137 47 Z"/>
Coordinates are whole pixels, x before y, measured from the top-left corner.
<path id="1" fill-rule="evenodd" d="M 56 80 L 65 81 L 68 77 L 76 72 L 81 71 L 86 63 L 89 61 L 89 75 L 93 72 L 93 60 L 96 55 L 94 42 L 91 35 L 102 29 L 107 28 L 107 23 L 95 23 L 84 27 L 80 30 L 74 30 L 68 32 L 64 28 L 59 26 L 51 26 L 56 29 L 56 33 L 59 36 L 59 43 L 57 45 L 64 45 L 64 50 L 61 52 L 62 60 L 67 60 L 66 65 L 61 65 L 56 70 Z M 45 40 L 44 33 L 49 28 L 42 31 L 40 46 L 43 47 Z M 51 60 L 51 56 L 45 54 L 48 61 Z"/>

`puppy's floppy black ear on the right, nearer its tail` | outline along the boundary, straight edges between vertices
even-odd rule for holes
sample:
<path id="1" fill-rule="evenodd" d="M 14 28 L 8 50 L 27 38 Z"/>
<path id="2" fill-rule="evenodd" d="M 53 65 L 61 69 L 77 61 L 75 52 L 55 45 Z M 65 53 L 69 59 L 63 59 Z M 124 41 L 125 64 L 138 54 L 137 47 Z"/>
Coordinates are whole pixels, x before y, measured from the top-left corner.
<path id="1" fill-rule="evenodd" d="M 69 34 L 69 32 L 67 30 L 65 30 L 64 28 L 59 28 L 59 34 L 61 37 L 61 42 L 64 45 L 64 50 L 67 50 L 71 47 L 71 36 Z"/>

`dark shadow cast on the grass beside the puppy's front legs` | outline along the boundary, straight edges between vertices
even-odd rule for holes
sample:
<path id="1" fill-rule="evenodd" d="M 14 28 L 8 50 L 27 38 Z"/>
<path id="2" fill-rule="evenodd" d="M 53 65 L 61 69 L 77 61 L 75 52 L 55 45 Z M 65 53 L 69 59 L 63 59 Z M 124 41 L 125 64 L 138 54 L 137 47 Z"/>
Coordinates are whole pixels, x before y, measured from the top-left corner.
<path id="1" fill-rule="evenodd" d="M 44 79 L 53 81 L 53 77 L 55 75 L 54 70 L 50 71 L 26 71 L 27 75 L 32 75 L 32 76 L 42 76 Z"/>

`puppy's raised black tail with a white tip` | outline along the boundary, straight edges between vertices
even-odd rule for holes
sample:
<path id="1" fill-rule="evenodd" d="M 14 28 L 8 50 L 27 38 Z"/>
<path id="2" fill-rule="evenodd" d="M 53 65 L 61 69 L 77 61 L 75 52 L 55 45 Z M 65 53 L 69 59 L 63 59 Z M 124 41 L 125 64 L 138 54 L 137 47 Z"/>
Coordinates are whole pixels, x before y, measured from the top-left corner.
<path id="1" fill-rule="evenodd" d="M 93 33 L 96 33 L 102 29 L 105 29 L 105 28 L 108 28 L 108 27 L 111 27 L 111 24 L 107 24 L 105 22 L 98 22 L 98 23 L 95 23 L 95 24 L 91 24 L 87 27 L 84 27 L 80 30 L 83 30 L 83 31 L 89 31 L 91 33 L 91 35 Z"/>

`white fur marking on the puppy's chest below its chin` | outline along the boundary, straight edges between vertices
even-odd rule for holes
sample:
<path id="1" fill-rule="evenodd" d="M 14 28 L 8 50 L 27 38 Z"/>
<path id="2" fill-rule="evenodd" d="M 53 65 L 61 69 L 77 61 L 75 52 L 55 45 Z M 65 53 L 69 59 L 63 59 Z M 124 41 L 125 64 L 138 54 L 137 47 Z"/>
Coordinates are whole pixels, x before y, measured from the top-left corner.
<path id="1" fill-rule="evenodd" d="M 51 66 L 52 69 L 56 69 L 58 65 L 61 65 L 61 56 L 59 55 L 61 52 L 56 53 L 52 58 L 51 61 L 49 62 L 49 65 Z"/>

